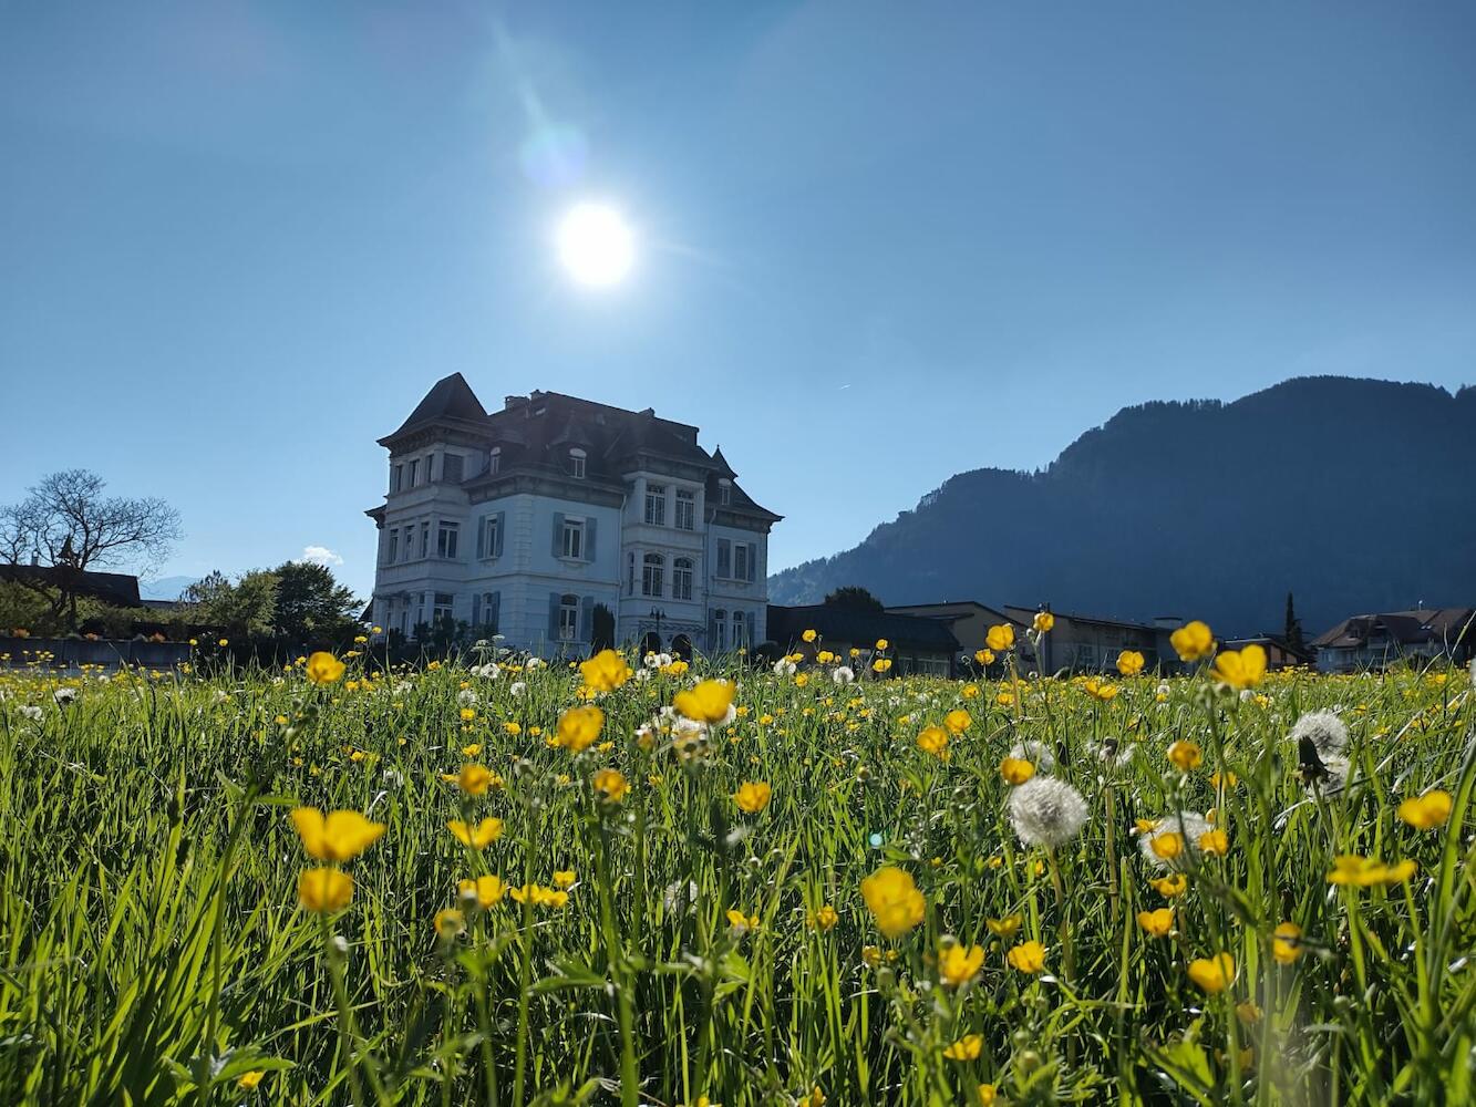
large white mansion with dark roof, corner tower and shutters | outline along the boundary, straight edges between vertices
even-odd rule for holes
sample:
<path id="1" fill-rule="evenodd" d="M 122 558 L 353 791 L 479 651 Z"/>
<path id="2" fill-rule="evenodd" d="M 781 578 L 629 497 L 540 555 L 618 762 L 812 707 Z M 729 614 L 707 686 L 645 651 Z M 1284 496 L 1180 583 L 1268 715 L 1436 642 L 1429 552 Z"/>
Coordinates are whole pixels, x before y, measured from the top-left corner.
<path id="1" fill-rule="evenodd" d="M 720 652 L 766 636 L 769 528 L 697 428 L 558 393 L 483 409 L 461 373 L 394 434 L 373 621 L 452 618 L 537 654 Z"/>

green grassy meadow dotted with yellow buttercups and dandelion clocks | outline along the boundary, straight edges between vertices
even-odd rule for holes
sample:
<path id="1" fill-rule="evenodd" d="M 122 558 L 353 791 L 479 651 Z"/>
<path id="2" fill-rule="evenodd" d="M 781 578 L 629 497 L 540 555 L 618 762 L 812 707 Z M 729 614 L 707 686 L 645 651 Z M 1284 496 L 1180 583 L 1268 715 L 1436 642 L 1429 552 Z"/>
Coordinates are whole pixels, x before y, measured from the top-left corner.
<path id="1" fill-rule="evenodd" d="M 1176 644 L 0 670 L 0 1103 L 1470 1103 L 1470 675 Z"/>

